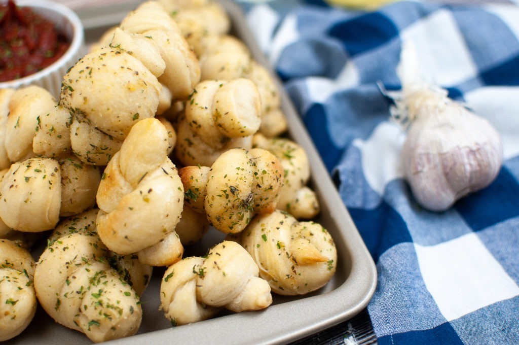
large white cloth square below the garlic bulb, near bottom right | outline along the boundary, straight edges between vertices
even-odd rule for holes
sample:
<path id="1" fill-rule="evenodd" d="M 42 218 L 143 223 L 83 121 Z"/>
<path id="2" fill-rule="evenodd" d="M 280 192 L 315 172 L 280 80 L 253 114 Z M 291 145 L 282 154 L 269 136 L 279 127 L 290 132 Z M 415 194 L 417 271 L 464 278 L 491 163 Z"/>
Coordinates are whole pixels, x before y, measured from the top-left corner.
<path id="1" fill-rule="evenodd" d="M 519 287 L 475 233 L 415 244 L 425 285 L 448 321 L 519 295 Z"/>

